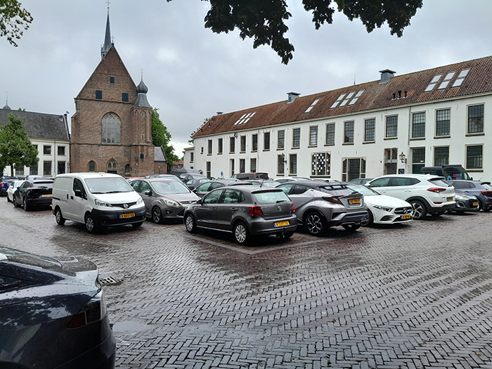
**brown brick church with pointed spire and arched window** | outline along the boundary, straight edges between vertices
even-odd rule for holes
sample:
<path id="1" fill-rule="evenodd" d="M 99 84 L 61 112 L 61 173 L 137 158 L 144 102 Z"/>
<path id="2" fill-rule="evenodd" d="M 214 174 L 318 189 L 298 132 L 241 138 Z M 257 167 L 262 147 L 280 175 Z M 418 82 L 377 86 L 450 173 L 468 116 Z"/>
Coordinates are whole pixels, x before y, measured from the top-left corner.
<path id="1" fill-rule="evenodd" d="M 75 98 L 70 171 L 145 176 L 167 169 L 152 143 L 147 91 L 143 77 L 135 85 L 112 44 L 108 11 L 101 63 Z"/>

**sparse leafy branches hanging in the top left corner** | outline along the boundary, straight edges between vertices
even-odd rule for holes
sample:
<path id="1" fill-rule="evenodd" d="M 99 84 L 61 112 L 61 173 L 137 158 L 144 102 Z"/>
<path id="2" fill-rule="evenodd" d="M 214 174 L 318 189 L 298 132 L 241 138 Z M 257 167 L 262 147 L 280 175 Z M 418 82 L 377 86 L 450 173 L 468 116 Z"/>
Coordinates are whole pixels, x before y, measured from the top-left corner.
<path id="1" fill-rule="evenodd" d="M 22 28 L 27 30 L 33 18 L 18 0 L 0 0 L 0 37 L 7 37 L 11 45 L 17 47 L 15 39 L 22 36 Z"/>

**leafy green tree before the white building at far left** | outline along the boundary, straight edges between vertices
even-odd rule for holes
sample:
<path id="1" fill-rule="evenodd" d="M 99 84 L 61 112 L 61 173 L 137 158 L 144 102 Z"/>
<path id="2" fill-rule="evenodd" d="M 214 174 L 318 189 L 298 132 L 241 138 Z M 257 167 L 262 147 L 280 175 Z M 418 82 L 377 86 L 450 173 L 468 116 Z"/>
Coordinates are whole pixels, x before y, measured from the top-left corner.
<path id="1" fill-rule="evenodd" d="M 37 149 L 32 145 L 24 129 L 22 120 L 13 114 L 8 115 L 11 122 L 0 127 L 0 168 L 11 166 L 11 176 L 13 167 L 32 167 L 39 162 Z"/>

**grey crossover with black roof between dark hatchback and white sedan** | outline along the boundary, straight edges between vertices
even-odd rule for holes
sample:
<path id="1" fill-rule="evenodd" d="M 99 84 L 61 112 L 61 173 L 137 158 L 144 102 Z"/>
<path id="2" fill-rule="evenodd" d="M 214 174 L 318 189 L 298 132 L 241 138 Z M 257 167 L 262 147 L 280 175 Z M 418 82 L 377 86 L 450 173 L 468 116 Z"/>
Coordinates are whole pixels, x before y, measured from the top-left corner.
<path id="1" fill-rule="evenodd" d="M 355 231 L 369 220 L 363 195 L 343 182 L 297 181 L 277 188 L 294 202 L 299 224 L 311 235 L 321 235 L 331 226 Z"/>

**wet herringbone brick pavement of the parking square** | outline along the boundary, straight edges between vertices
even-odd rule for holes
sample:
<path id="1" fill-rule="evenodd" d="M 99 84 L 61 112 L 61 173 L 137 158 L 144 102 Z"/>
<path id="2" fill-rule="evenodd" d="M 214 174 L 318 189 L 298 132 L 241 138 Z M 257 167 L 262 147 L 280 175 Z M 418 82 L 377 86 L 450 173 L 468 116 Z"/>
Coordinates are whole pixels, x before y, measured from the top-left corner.
<path id="1" fill-rule="evenodd" d="M 91 235 L 0 200 L 4 245 L 115 282 L 119 369 L 492 368 L 490 213 L 236 247 L 181 224 Z"/>

